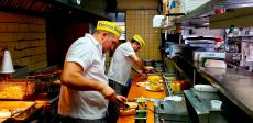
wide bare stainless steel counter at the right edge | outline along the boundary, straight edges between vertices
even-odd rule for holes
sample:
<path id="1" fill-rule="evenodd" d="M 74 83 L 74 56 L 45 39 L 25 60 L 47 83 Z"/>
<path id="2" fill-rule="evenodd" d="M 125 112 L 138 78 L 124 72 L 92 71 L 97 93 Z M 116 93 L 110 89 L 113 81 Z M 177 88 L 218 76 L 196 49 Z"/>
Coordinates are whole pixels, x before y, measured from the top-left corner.
<path id="1" fill-rule="evenodd" d="M 253 74 L 250 71 L 234 70 L 230 68 L 206 68 L 200 63 L 194 63 L 194 67 L 211 85 L 253 118 Z"/>

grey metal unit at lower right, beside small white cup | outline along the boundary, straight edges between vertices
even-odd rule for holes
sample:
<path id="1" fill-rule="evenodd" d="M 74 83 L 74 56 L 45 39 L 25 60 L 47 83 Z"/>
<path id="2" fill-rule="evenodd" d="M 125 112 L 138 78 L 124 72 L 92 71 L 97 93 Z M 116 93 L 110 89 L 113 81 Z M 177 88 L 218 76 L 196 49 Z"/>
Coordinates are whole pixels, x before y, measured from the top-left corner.
<path id="1" fill-rule="evenodd" d="M 211 100 L 221 100 L 216 92 L 185 90 L 186 105 L 193 123 L 229 123 L 226 104 L 220 109 L 211 105 Z"/>

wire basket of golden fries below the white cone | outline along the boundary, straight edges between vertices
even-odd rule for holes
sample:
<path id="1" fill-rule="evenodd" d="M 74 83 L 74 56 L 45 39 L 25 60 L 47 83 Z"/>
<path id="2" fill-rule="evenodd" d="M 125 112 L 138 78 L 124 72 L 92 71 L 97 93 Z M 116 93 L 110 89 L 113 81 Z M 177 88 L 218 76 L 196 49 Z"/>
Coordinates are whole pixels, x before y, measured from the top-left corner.
<path id="1" fill-rule="evenodd" d="M 0 99 L 23 100 L 34 93 L 33 79 L 9 79 L 0 81 Z"/>

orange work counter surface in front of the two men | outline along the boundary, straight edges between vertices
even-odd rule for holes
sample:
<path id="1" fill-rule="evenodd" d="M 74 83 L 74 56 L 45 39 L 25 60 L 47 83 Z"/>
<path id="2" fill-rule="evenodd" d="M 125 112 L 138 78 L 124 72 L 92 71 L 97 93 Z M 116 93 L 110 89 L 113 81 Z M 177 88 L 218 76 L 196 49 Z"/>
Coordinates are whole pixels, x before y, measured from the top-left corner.
<path id="1" fill-rule="evenodd" d="M 129 91 L 128 100 L 133 101 L 134 98 L 151 98 L 151 99 L 164 99 L 166 97 L 166 90 L 153 92 L 148 91 L 143 87 L 139 87 L 136 82 L 145 81 L 142 80 L 140 77 L 135 77 L 131 89 Z M 164 87 L 165 88 L 165 87 Z M 118 119 L 118 123 L 134 123 L 134 115 L 129 116 L 120 116 Z M 154 104 L 153 102 L 147 102 L 147 121 L 146 123 L 154 123 Z"/>

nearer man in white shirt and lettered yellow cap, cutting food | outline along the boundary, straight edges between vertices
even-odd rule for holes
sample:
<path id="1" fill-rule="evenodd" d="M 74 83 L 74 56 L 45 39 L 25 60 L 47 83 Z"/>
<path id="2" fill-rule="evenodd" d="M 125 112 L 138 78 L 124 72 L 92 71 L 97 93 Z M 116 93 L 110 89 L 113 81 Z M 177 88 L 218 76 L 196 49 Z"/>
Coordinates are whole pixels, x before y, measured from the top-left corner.
<path id="1" fill-rule="evenodd" d="M 92 35 L 86 34 L 69 47 L 61 77 L 62 123 L 107 123 L 108 102 L 127 101 L 116 94 L 105 75 L 106 52 L 113 49 L 121 33 L 116 23 L 98 21 Z"/>

